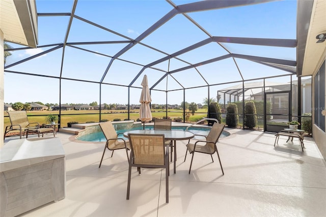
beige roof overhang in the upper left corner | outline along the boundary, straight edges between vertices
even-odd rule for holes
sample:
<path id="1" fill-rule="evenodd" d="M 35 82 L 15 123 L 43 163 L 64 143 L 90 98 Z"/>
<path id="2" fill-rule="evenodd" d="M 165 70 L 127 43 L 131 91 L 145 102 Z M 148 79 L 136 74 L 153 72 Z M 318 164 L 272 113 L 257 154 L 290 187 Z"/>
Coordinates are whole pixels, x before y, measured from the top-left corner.
<path id="1" fill-rule="evenodd" d="M 0 29 L 4 40 L 37 47 L 37 10 L 35 0 L 1 0 Z"/>

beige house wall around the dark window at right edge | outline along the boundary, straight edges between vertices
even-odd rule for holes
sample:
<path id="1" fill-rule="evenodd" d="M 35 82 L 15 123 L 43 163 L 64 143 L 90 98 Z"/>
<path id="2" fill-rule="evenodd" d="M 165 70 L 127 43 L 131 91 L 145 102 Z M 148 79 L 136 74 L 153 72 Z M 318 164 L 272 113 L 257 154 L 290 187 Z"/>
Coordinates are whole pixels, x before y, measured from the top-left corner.
<path id="1" fill-rule="evenodd" d="M 326 43 L 326 42 L 324 42 Z M 316 69 L 313 73 L 313 76 L 315 76 L 317 74 L 317 71 L 319 70 L 321 64 L 323 63 L 323 61 L 326 60 L 326 49 L 324 49 L 324 52 L 323 52 L 323 55 L 320 57 L 320 60 L 318 62 L 318 65 L 316 66 Z M 314 88 L 314 83 L 313 83 L 313 88 Z M 314 92 L 313 92 L 313 95 L 314 95 Z M 325 93 L 324 93 L 324 97 L 325 97 L 325 101 L 326 101 L 326 89 L 325 89 Z M 314 97 L 312 97 L 312 99 L 314 100 Z M 314 101 L 313 101 L 313 104 Z M 324 105 L 324 110 L 326 109 L 325 108 L 326 105 Z M 315 110 L 313 110 L 313 119 L 314 120 L 314 114 L 315 113 Z M 326 121 L 326 116 L 324 116 L 325 118 L 325 121 Z M 314 121 L 313 121 L 313 125 L 312 125 L 312 137 L 313 139 L 315 140 L 319 150 L 320 150 L 320 153 L 321 155 L 323 156 L 323 158 L 326 160 L 326 132 L 322 131 L 317 125 L 314 124 Z"/>

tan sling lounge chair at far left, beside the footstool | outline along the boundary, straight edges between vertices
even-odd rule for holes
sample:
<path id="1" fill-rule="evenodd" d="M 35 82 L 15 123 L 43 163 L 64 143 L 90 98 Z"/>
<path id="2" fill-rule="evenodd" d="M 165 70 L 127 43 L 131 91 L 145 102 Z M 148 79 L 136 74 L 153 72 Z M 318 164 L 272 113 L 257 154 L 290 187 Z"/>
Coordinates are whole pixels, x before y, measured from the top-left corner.
<path id="1" fill-rule="evenodd" d="M 6 126 L 4 139 L 6 134 L 12 130 L 19 130 L 19 136 L 21 139 L 21 133 L 23 136 L 29 132 L 38 132 L 37 129 L 40 128 L 40 124 L 37 122 L 30 123 L 27 117 L 26 111 L 7 111 L 10 119 L 10 126 Z"/>

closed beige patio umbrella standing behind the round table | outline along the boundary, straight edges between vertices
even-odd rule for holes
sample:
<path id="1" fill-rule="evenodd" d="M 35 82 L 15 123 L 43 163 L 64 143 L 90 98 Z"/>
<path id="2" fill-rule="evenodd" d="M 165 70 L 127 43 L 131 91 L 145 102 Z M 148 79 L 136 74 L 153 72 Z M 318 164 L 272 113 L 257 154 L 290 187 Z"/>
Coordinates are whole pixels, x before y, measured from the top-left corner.
<path id="1" fill-rule="evenodd" d="M 144 129 L 145 129 L 145 122 L 146 121 L 151 121 L 152 120 L 152 112 L 151 112 L 151 107 L 149 103 L 152 101 L 151 99 L 151 94 L 149 92 L 148 88 L 148 82 L 147 82 L 147 75 L 144 75 L 143 81 L 142 81 L 142 94 L 139 102 L 141 103 L 141 108 L 139 111 L 140 114 L 140 119 L 144 124 Z"/>

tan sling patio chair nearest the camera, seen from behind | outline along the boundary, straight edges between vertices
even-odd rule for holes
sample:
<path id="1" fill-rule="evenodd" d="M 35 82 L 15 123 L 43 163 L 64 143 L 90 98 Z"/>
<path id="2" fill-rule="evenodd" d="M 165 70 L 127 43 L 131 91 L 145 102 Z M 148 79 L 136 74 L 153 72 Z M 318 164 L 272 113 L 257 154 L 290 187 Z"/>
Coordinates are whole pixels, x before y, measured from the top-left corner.
<path id="1" fill-rule="evenodd" d="M 131 153 L 129 158 L 127 200 L 130 195 L 131 168 L 165 168 L 166 203 L 169 203 L 169 146 L 165 146 L 164 134 L 129 133 Z M 166 151 L 165 151 L 166 147 Z"/>

